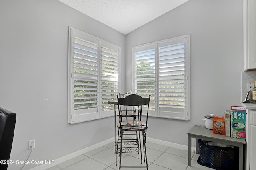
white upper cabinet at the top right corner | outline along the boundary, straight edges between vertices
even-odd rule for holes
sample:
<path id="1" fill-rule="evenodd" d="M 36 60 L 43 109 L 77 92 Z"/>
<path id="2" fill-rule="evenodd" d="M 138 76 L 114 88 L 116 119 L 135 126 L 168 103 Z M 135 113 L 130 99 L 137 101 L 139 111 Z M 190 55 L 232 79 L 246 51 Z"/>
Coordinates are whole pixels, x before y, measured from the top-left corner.
<path id="1" fill-rule="evenodd" d="M 244 71 L 256 70 L 256 0 L 244 0 Z"/>

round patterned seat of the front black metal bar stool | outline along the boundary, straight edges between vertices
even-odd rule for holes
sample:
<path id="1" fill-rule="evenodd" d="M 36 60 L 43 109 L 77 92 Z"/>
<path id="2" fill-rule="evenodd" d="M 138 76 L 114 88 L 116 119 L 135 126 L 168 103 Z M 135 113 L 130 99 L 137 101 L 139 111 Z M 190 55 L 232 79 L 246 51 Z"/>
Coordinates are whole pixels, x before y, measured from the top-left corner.
<path id="1" fill-rule="evenodd" d="M 143 121 L 122 121 L 122 128 L 128 131 L 138 131 L 146 128 L 146 123 Z M 120 123 L 117 124 L 118 128 L 120 127 Z"/>

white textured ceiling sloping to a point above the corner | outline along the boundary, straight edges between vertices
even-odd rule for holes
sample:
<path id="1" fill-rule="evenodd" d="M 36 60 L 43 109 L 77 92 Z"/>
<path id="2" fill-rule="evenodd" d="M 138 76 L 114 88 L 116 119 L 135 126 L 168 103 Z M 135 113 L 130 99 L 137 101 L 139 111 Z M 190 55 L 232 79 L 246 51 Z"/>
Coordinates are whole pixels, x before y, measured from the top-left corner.
<path id="1" fill-rule="evenodd" d="M 188 0 L 59 0 L 124 35 Z"/>

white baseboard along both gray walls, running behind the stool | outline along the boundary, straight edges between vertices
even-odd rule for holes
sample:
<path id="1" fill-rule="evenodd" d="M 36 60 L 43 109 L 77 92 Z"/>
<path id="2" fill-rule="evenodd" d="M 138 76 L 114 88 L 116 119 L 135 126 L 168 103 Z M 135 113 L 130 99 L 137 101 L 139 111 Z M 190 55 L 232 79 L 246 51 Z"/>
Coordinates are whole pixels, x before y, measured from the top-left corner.
<path id="1" fill-rule="evenodd" d="M 151 143 L 156 143 L 156 144 L 159 144 L 159 145 L 165 145 L 165 146 L 176 148 L 176 149 L 188 150 L 188 146 L 186 146 L 186 145 L 180 145 L 180 144 L 177 144 L 177 143 L 162 141 L 162 140 L 154 139 L 154 138 L 150 138 L 150 137 L 146 137 L 146 141 L 151 142 Z M 30 170 L 46 170 L 46 169 L 51 168 L 53 166 L 56 166 L 60 163 L 63 163 L 67 160 L 75 158 L 75 157 L 77 157 L 81 154 L 84 154 L 84 153 L 89 152 L 91 150 L 94 150 L 94 149 L 97 149 L 97 148 L 102 147 L 104 145 L 107 145 L 108 143 L 111 143 L 111 142 L 114 142 L 114 137 L 112 137 L 110 139 L 107 139 L 105 141 L 102 141 L 100 143 L 97 143 L 95 145 L 92 145 L 90 147 L 87 147 L 87 148 L 78 150 L 76 152 L 73 152 L 71 154 L 68 154 L 68 155 L 62 156 L 60 158 L 57 158 L 57 159 L 54 160 L 54 164 L 42 164 L 40 166 L 36 166 L 34 168 L 31 168 Z M 192 150 L 193 149 L 194 148 L 192 147 Z"/>

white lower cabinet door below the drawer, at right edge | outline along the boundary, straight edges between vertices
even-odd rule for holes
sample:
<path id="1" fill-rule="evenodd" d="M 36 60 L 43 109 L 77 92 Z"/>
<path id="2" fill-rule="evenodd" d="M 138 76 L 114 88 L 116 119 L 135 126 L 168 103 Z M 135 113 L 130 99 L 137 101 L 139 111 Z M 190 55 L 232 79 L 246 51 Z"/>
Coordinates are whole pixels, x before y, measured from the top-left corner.
<path id="1" fill-rule="evenodd" d="M 256 134 L 256 126 L 251 125 L 251 134 Z M 251 135 L 250 140 L 251 148 L 250 148 L 250 170 L 254 170 L 256 167 L 256 135 Z"/>

